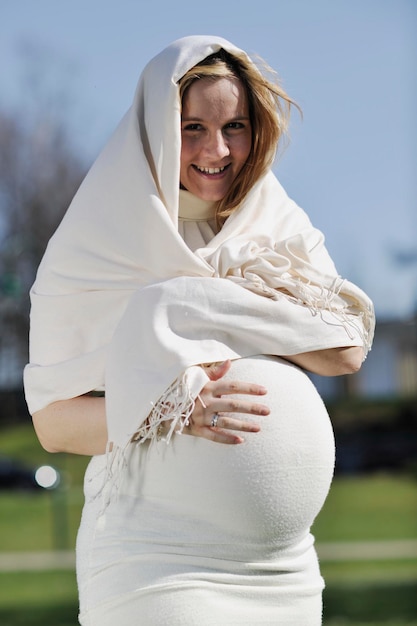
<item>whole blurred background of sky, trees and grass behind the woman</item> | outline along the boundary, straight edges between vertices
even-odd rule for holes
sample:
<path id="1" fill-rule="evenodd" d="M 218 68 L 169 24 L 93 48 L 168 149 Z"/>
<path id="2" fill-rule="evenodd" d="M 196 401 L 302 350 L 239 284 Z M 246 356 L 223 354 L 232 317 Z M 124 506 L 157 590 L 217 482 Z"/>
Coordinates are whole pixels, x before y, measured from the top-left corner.
<path id="1" fill-rule="evenodd" d="M 0 0 L 0 623 L 77 623 L 88 459 L 48 455 L 33 433 L 28 291 L 144 65 L 190 34 L 225 37 L 278 71 L 303 119 L 294 114 L 276 174 L 375 303 L 362 370 L 314 377 L 337 444 L 314 526 L 325 624 L 415 626 L 415 0 Z"/>

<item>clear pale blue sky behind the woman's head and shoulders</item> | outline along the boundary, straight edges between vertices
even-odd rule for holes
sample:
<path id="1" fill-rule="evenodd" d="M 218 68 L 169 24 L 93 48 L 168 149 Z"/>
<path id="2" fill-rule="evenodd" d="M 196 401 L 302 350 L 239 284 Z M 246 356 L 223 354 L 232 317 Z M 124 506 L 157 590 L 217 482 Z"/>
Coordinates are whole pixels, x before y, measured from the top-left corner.
<path id="1" fill-rule="evenodd" d="M 279 72 L 304 119 L 294 114 L 276 174 L 378 316 L 408 316 L 417 263 L 395 252 L 417 249 L 415 0 L 1 0 L 0 106 L 24 109 L 27 72 L 40 69 L 65 92 L 91 162 L 146 62 L 190 34 L 225 37 Z"/>

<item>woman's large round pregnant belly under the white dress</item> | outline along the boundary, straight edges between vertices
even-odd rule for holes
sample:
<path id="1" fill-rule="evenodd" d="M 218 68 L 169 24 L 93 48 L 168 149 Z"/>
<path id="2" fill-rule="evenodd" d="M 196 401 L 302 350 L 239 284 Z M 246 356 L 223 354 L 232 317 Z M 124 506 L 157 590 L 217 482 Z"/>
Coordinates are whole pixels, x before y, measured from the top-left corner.
<path id="1" fill-rule="evenodd" d="M 168 523 L 181 541 L 186 519 L 187 537 L 192 528 L 196 542 L 210 528 L 225 544 L 288 544 L 308 532 L 330 487 L 327 411 L 306 374 L 279 358 L 234 361 L 227 378 L 268 389 L 263 401 L 271 413 L 256 418 L 261 431 L 235 446 L 187 435 L 169 445 L 134 446 L 122 493 L 140 502 L 144 526 L 158 535 Z"/>

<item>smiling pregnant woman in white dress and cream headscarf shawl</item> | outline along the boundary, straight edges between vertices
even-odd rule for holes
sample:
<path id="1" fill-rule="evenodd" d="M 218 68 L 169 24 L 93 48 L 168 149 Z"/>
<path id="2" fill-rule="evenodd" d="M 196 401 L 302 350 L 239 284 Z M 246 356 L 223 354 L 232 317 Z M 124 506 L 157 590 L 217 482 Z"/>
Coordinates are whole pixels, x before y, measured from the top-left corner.
<path id="1" fill-rule="evenodd" d="M 152 59 L 39 267 L 25 389 L 42 445 L 92 457 L 84 626 L 321 624 L 306 371 L 357 371 L 374 315 L 271 171 L 270 73 L 219 37 Z"/>

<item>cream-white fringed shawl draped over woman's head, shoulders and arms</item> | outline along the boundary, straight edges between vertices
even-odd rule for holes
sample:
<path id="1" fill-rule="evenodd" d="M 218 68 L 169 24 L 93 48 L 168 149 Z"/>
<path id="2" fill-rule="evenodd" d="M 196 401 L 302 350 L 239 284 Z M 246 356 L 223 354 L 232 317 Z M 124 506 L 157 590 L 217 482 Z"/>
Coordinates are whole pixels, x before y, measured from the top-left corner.
<path id="1" fill-rule="evenodd" d="M 207 381 L 192 366 L 370 348 L 372 303 L 272 172 L 205 248 L 178 234 L 177 81 L 219 48 L 236 50 L 186 37 L 150 61 L 50 240 L 31 290 L 31 413 L 105 388 L 109 441 L 123 446 L 174 381 L 192 401 Z"/>

